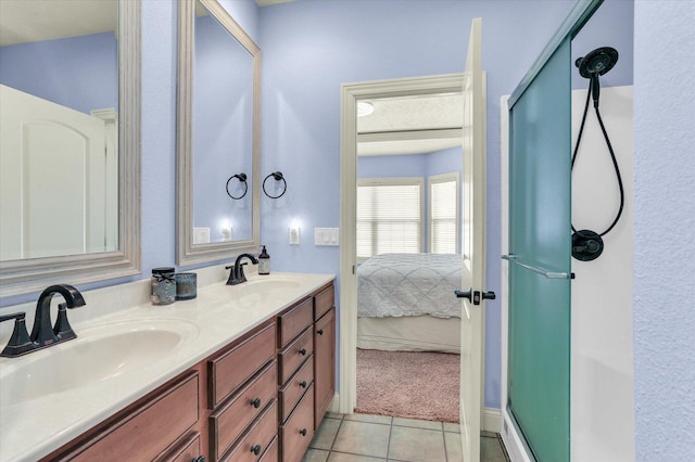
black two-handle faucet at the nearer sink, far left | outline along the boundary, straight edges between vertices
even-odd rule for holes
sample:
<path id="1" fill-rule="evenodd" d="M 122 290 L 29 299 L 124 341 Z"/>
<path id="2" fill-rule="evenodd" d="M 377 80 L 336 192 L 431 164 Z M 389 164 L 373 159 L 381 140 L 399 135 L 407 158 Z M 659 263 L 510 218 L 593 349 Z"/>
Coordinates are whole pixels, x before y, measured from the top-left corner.
<path id="1" fill-rule="evenodd" d="M 65 298 L 65 303 L 58 306 L 55 325 L 51 326 L 51 299 L 55 294 L 61 294 L 63 298 Z M 70 322 L 67 322 L 66 308 L 77 308 L 81 306 L 85 306 L 85 298 L 83 298 L 83 294 L 72 285 L 58 284 L 46 288 L 41 292 L 36 303 L 36 315 L 34 317 L 31 335 L 29 335 L 26 330 L 25 313 L 16 312 L 0 317 L 0 322 L 14 319 L 14 331 L 12 332 L 8 346 L 0 352 L 0 356 L 22 356 L 77 337 Z"/>

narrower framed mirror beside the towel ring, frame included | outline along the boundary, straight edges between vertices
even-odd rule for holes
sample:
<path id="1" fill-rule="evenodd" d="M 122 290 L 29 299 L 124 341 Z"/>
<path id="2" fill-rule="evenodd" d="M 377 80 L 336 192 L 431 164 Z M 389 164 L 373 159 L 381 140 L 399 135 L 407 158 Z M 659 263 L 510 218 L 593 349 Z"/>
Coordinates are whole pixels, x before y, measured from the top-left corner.
<path id="1" fill-rule="evenodd" d="M 260 72 L 217 1 L 179 2 L 178 265 L 258 248 Z"/>

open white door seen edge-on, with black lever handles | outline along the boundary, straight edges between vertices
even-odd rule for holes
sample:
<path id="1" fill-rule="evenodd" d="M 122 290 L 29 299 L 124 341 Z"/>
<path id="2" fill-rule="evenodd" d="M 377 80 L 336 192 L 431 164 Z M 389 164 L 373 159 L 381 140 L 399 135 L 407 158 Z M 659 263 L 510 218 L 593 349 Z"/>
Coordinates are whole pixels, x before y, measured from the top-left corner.
<path id="1" fill-rule="evenodd" d="M 485 292 L 485 99 L 481 68 L 482 20 L 470 29 L 464 80 L 460 435 L 466 462 L 480 461 Z"/>

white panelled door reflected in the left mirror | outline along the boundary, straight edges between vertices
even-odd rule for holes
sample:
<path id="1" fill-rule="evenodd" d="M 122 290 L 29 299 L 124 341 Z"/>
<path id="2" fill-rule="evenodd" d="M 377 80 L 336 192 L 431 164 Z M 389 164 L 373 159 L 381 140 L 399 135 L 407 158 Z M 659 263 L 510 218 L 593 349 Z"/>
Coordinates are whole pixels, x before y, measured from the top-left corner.
<path id="1" fill-rule="evenodd" d="M 0 92 L 0 259 L 104 252 L 104 121 L 7 86 Z"/>

